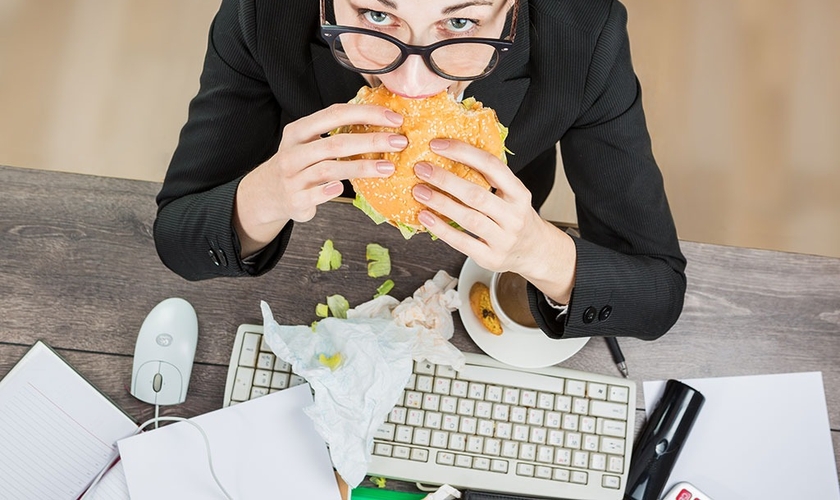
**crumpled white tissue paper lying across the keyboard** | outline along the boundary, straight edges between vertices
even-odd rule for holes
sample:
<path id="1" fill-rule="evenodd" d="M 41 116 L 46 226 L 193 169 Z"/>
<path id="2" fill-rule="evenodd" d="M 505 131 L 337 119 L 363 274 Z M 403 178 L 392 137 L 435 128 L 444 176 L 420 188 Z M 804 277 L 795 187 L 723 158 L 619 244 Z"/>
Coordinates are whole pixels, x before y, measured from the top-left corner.
<path id="1" fill-rule="evenodd" d="M 464 354 L 449 343 L 452 311 L 460 306 L 456 278 L 445 271 L 426 281 L 402 302 L 384 295 L 315 325 L 280 325 L 260 303 L 265 341 L 315 395 L 304 409 L 330 447 L 333 466 L 354 488 L 370 463 L 373 437 L 397 403 L 412 361 L 464 366 Z M 333 369 L 319 358 L 338 354 Z M 335 358 L 333 358 L 335 359 Z"/>

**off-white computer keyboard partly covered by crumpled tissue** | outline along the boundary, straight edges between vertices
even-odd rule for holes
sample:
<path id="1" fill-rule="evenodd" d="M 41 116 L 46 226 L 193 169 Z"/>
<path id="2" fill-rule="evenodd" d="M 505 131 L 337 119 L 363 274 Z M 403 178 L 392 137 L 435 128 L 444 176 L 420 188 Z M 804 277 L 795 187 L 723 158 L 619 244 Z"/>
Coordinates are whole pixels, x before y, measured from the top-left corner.
<path id="1" fill-rule="evenodd" d="M 550 498 L 622 498 L 634 382 L 465 356 L 459 372 L 415 362 L 375 437 L 370 475 Z M 304 382 L 272 354 L 261 326 L 239 327 L 224 406 Z"/>

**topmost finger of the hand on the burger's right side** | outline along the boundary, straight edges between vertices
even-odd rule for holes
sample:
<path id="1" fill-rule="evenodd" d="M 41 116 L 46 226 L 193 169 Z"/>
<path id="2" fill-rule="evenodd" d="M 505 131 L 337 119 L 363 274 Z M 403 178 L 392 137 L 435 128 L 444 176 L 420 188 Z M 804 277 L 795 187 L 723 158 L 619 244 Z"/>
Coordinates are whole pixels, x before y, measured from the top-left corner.
<path id="1" fill-rule="evenodd" d="M 518 200 L 530 196 L 528 188 L 513 174 L 510 167 L 483 149 L 454 139 L 434 139 L 429 147 L 435 154 L 468 165 L 484 174 L 491 186 L 502 191 L 500 195 L 503 197 Z"/>

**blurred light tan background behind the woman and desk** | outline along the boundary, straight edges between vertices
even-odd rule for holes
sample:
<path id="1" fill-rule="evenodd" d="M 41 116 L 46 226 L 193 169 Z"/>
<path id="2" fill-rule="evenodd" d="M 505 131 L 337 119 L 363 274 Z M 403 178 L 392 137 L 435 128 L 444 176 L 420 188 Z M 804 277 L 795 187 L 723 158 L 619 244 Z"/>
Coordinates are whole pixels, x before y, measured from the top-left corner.
<path id="1" fill-rule="evenodd" d="M 624 3 L 680 238 L 840 257 L 840 2 Z M 0 0 L 0 164 L 161 181 L 218 5 Z"/>

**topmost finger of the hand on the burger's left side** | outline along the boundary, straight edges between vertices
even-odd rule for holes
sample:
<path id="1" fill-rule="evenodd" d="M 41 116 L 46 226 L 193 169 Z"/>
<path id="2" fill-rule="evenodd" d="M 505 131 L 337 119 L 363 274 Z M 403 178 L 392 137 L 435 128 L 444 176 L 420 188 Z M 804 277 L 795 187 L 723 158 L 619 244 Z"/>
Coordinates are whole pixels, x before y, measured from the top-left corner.
<path id="1" fill-rule="evenodd" d="M 291 144 L 311 142 L 323 134 L 348 125 L 399 127 L 403 117 L 384 106 L 373 104 L 333 104 L 286 125 L 283 139 Z"/>

